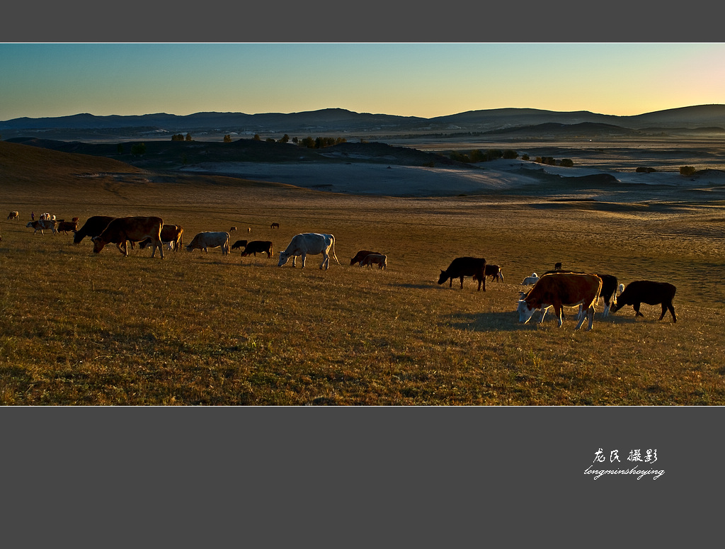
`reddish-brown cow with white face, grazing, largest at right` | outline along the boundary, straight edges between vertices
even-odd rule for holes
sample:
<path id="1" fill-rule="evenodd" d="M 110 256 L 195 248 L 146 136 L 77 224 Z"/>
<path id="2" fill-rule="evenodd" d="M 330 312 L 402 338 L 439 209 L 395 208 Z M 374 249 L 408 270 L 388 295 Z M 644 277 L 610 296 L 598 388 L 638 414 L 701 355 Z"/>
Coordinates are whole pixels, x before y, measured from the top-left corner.
<path id="1" fill-rule="evenodd" d="M 518 301 L 518 321 L 527 323 L 534 311 L 541 310 L 539 324 L 544 321 L 548 307 L 554 307 L 559 327 L 562 326 L 562 307 L 582 305 L 587 313 L 580 315 L 576 329 L 589 319 L 587 331 L 594 323 L 595 304 L 602 291 L 602 279 L 594 274 L 554 273 L 539 278 L 534 287 Z"/>

